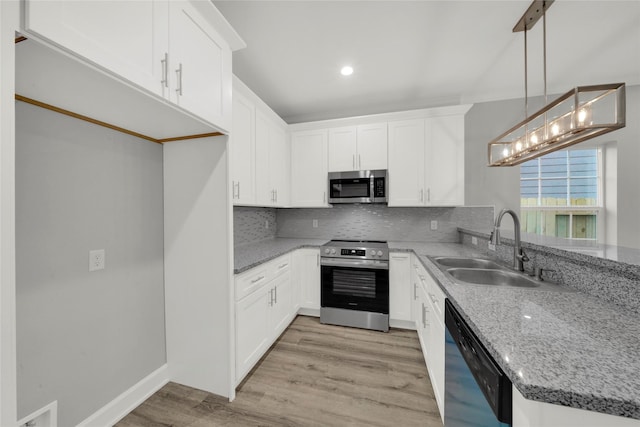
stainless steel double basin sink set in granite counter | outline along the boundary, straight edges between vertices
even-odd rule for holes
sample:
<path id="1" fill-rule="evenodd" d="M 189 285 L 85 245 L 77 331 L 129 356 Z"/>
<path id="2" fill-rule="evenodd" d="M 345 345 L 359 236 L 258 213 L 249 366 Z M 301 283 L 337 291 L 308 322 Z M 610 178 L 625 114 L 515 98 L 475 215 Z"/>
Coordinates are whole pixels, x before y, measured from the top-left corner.
<path id="1" fill-rule="evenodd" d="M 428 258 L 453 282 L 462 285 L 571 291 L 566 286 L 531 278 L 489 259 L 448 256 L 430 256 Z"/>

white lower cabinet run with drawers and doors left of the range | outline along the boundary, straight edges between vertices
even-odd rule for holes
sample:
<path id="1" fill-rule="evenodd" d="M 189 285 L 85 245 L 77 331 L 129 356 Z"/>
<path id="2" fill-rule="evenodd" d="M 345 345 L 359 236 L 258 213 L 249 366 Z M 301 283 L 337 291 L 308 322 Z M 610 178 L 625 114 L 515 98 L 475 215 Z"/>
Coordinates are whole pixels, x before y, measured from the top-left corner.
<path id="1" fill-rule="evenodd" d="M 236 275 L 236 385 L 296 315 L 291 255 Z"/>

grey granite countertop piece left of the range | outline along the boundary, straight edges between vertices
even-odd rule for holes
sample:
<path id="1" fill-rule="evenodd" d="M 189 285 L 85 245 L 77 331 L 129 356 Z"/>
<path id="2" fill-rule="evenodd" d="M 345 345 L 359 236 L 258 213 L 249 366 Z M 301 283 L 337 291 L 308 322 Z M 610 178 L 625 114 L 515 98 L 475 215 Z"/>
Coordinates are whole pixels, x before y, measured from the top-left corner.
<path id="1" fill-rule="evenodd" d="M 236 246 L 233 250 L 234 274 L 242 273 L 263 262 L 270 261 L 300 248 L 315 248 L 324 245 L 323 239 L 267 239 L 260 242 Z"/>

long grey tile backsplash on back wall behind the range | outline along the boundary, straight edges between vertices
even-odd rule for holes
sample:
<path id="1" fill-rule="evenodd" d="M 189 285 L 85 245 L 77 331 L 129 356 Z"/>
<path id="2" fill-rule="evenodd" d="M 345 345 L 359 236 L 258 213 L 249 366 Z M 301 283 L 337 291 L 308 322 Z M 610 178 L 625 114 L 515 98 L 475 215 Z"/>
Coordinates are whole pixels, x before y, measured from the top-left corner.
<path id="1" fill-rule="evenodd" d="M 436 230 L 431 229 L 432 221 L 437 221 Z M 490 227 L 493 207 L 390 208 L 348 204 L 326 209 L 278 209 L 277 223 L 277 237 L 458 242 L 458 227 Z"/>

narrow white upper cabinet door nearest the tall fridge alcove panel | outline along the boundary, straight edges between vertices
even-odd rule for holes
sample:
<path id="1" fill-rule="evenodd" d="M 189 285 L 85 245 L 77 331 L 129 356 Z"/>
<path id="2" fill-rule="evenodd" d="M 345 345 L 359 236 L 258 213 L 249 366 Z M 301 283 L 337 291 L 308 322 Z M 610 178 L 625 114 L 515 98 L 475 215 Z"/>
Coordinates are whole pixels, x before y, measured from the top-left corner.
<path id="1" fill-rule="evenodd" d="M 233 127 L 229 140 L 233 204 L 255 203 L 255 105 L 233 95 Z"/>

